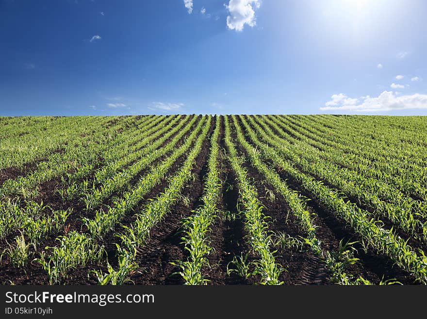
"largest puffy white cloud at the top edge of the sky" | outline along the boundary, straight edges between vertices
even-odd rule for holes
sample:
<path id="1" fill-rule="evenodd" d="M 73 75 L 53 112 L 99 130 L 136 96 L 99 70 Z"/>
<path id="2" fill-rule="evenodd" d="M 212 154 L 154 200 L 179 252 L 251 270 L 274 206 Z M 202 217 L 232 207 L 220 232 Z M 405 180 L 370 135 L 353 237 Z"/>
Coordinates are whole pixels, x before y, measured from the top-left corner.
<path id="1" fill-rule="evenodd" d="M 260 5 L 260 0 L 230 0 L 229 5 L 226 5 L 230 12 L 230 16 L 227 17 L 227 27 L 230 30 L 243 31 L 245 24 L 250 27 L 255 26 L 254 8 L 257 9 Z"/>

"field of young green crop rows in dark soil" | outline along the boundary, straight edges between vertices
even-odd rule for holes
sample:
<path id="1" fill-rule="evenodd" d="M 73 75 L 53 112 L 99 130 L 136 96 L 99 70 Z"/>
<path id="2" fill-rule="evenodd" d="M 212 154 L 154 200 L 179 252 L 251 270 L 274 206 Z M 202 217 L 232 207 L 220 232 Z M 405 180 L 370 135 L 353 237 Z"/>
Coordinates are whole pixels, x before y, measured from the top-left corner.
<path id="1" fill-rule="evenodd" d="M 427 118 L 0 117 L 1 284 L 427 284 Z"/>

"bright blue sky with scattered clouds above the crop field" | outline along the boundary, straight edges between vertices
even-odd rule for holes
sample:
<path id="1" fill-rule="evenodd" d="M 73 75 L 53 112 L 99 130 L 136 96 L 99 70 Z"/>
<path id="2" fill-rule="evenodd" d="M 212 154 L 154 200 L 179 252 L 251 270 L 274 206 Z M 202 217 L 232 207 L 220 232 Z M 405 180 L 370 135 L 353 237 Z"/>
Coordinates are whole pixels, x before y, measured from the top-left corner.
<path id="1" fill-rule="evenodd" d="M 427 1 L 0 0 L 0 115 L 427 115 Z"/>

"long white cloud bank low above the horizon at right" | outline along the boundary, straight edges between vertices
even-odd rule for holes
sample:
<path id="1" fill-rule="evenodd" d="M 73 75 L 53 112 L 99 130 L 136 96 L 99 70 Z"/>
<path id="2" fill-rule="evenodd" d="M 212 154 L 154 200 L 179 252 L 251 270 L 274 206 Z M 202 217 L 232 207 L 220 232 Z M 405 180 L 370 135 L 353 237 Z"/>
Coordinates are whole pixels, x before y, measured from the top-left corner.
<path id="1" fill-rule="evenodd" d="M 392 91 L 384 91 L 378 97 L 371 98 L 366 96 L 356 104 L 346 104 L 340 102 L 337 105 L 326 105 L 321 110 L 338 110 L 338 111 L 357 111 L 357 112 L 377 112 L 406 109 L 427 109 L 426 94 L 412 94 L 397 96 Z"/>

